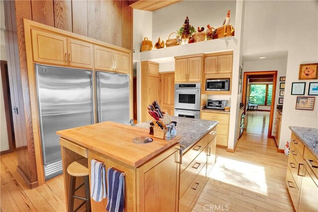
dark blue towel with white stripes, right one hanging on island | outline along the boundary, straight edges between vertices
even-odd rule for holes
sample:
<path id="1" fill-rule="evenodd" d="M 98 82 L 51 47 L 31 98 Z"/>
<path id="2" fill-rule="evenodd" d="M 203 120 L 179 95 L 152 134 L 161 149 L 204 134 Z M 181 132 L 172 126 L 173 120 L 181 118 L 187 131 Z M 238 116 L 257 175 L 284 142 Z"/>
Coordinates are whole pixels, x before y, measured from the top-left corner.
<path id="1" fill-rule="evenodd" d="M 123 212 L 125 205 L 125 176 L 113 169 L 107 169 L 107 207 L 108 212 Z"/>

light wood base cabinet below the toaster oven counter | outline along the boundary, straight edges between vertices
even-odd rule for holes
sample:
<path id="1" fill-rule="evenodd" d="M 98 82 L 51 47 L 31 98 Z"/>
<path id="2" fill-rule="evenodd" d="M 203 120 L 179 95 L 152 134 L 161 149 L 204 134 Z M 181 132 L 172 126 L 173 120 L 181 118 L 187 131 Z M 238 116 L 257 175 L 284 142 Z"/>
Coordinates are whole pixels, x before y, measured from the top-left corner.
<path id="1" fill-rule="evenodd" d="M 201 112 L 201 119 L 218 121 L 217 145 L 228 147 L 230 114 Z"/>

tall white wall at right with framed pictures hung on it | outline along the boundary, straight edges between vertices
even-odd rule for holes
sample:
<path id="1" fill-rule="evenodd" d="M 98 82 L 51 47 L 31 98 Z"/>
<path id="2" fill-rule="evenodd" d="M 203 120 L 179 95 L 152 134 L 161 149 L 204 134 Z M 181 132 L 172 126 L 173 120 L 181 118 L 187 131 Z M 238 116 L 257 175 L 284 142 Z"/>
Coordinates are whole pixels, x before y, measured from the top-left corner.
<path id="1" fill-rule="evenodd" d="M 300 115 L 296 95 L 290 95 L 292 82 L 299 81 L 299 65 L 318 62 L 318 1 L 246 1 L 243 29 L 243 55 L 288 51 L 279 143 L 283 149 L 290 139 L 289 126 L 318 128 L 318 104 L 314 116 Z M 317 80 L 302 81 L 308 93 L 308 82 Z"/>

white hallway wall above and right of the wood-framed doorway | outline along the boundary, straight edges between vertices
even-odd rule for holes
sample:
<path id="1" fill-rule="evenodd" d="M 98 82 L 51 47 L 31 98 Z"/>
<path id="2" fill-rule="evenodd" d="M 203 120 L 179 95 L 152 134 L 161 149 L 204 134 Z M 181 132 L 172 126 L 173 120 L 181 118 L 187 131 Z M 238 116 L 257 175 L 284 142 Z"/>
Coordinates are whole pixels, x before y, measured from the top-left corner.
<path id="1" fill-rule="evenodd" d="M 278 104 L 278 98 L 279 96 L 279 77 L 281 76 L 286 76 L 286 71 L 287 71 L 287 58 L 286 59 L 281 59 L 281 60 L 260 60 L 256 59 L 254 61 L 244 61 L 243 60 L 243 72 L 248 72 L 248 71 L 277 71 L 277 84 L 276 84 L 276 92 L 275 92 L 275 111 L 276 111 L 276 106 Z M 258 109 L 260 110 L 266 110 L 262 109 L 263 107 L 259 106 Z M 270 110 L 270 109 L 269 109 Z M 274 124 L 273 120 L 273 124 Z M 274 126 L 274 125 L 273 125 Z M 273 134 L 273 132 L 272 132 Z"/>

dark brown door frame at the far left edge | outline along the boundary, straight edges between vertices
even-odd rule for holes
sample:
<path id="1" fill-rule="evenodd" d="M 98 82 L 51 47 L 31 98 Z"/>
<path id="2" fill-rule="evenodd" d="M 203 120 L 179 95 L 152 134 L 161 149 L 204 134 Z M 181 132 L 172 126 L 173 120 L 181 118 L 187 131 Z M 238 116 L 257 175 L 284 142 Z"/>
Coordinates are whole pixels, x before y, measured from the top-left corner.
<path id="1" fill-rule="evenodd" d="M 5 117 L 6 132 L 7 132 L 8 146 L 9 146 L 9 149 L 1 151 L 0 154 L 6 154 L 6 153 L 12 152 L 15 149 L 8 65 L 6 61 L 0 61 L 0 71 L 1 71 L 2 91 L 3 91 L 3 104 L 4 104 L 4 114 L 5 114 L 4 117 Z M 1 116 L 2 115 L 3 114 L 1 111 Z"/>

